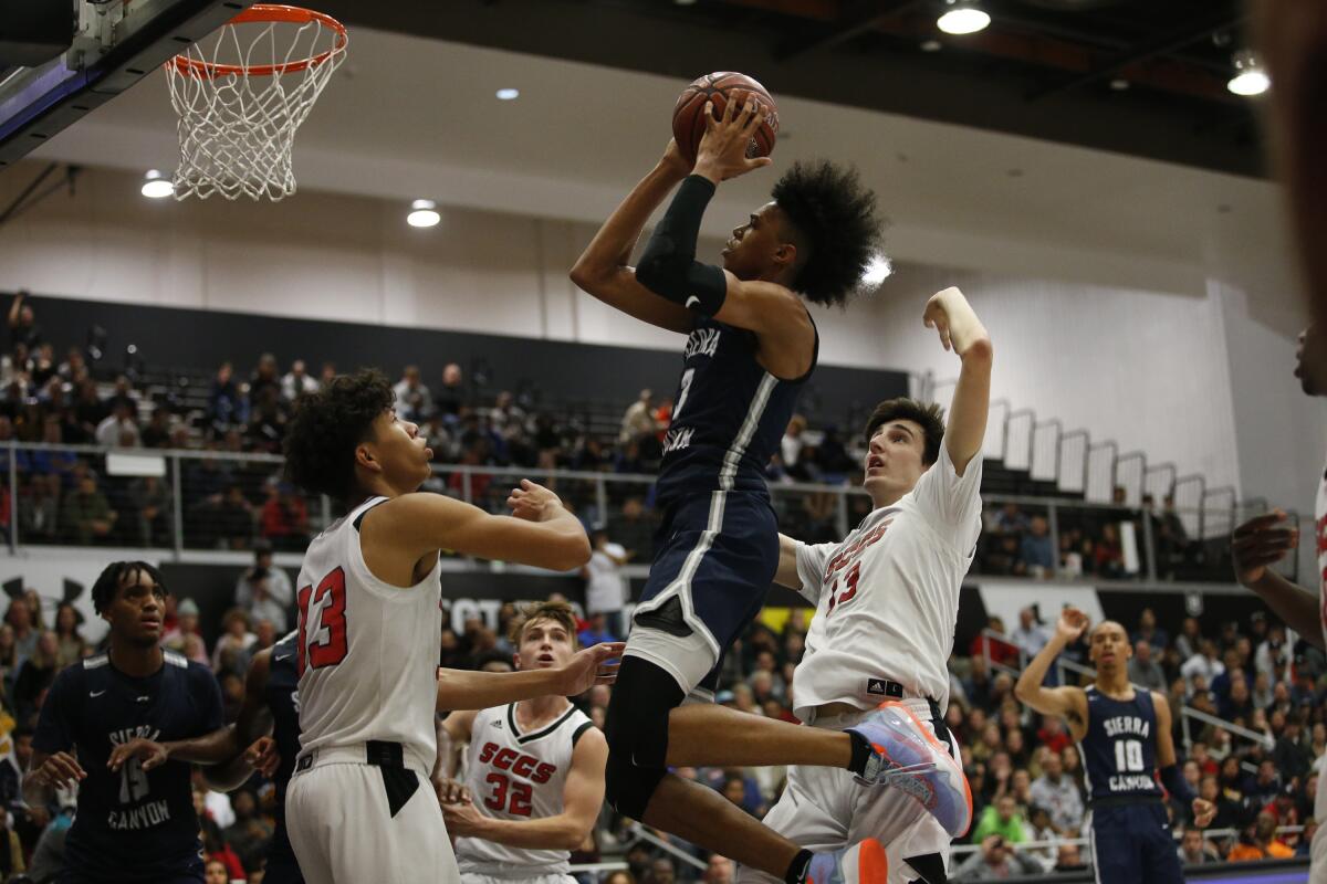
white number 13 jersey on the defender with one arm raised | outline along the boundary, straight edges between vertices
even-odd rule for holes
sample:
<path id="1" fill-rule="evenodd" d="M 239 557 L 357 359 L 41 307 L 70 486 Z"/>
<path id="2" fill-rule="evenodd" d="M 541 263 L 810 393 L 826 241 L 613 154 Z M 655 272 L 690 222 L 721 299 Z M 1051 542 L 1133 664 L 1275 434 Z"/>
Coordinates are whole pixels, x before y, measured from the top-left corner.
<path id="1" fill-rule="evenodd" d="M 949 705 L 958 594 L 982 531 L 982 455 L 962 476 L 945 445 L 897 504 L 841 543 L 798 545 L 802 595 L 816 606 L 794 673 L 794 713 L 827 702 L 869 708 L 884 681 Z"/>

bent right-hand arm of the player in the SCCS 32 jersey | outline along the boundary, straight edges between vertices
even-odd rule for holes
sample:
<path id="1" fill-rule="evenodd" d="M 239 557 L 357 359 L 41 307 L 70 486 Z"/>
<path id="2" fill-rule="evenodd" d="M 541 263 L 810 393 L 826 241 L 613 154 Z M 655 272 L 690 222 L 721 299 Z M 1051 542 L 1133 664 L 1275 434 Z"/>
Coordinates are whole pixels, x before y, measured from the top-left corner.
<path id="1" fill-rule="evenodd" d="M 541 819 L 507 820 L 484 816 L 470 803 L 443 804 L 447 832 L 508 847 L 573 851 L 589 836 L 604 806 L 606 765 L 608 741 L 597 728 L 589 728 L 572 751 L 572 769 L 563 787 L 563 812 Z"/>

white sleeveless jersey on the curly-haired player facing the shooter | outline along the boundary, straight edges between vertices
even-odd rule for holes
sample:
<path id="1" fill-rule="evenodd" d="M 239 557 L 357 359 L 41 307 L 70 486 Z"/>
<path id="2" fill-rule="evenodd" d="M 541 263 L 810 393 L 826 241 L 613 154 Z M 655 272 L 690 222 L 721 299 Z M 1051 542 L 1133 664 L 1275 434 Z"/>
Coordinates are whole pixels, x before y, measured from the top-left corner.
<path id="1" fill-rule="evenodd" d="M 297 583 L 300 754 L 381 740 L 402 744 L 407 766 L 431 770 L 438 755 L 441 571 L 434 565 L 409 588 L 369 571 L 360 521 L 385 500 L 350 510 L 304 554 Z"/>

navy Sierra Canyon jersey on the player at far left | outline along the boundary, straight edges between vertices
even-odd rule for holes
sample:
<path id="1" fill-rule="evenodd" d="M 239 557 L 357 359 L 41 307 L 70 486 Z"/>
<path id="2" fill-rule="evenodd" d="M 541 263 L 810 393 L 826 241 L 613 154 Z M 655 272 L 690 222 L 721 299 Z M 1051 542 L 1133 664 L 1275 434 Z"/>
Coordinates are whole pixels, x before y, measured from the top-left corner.
<path id="1" fill-rule="evenodd" d="M 174 651 L 165 657 L 146 679 L 119 672 L 109 655 L 88 657 L 56 676 L 41 706 L 33 747 L 76 751 L 88 771 L 65 842 L 65 867 L 78 877 L 155 881 L 199 865 L 190 766 L 106 767 L 111 749 L 134 737 L 188 740 L 226 724 L 222 689 L 207 667 Z"/>

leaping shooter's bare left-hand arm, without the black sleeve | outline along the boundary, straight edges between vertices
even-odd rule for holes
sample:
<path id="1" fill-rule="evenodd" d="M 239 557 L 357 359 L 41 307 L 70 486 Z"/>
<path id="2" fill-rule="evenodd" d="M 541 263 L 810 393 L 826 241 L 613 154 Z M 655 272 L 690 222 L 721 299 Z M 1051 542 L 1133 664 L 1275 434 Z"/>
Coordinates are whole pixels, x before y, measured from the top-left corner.
<path id="1" fill-rule="evenodd" d="M 641 285 L 629 264 L 632 249 L 641 237 L 645 221 L 690 171 L 677 148 L 677 142 L 669 142 L 664 159 L 608 216 L 571 272 L 572 282 L 604 304 L 653 326 L 681 334 L 691 331 L 690 310 L 661 298 Z"/>

